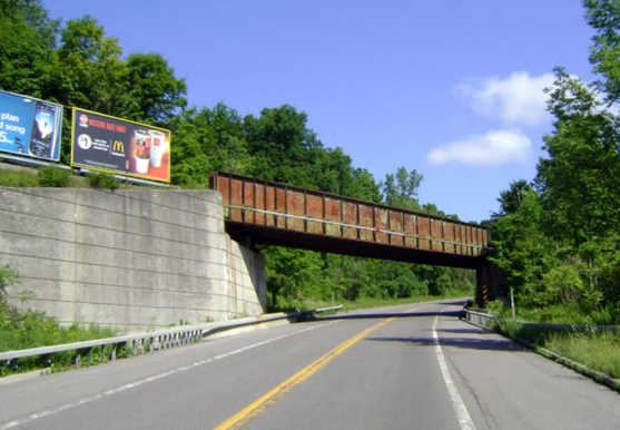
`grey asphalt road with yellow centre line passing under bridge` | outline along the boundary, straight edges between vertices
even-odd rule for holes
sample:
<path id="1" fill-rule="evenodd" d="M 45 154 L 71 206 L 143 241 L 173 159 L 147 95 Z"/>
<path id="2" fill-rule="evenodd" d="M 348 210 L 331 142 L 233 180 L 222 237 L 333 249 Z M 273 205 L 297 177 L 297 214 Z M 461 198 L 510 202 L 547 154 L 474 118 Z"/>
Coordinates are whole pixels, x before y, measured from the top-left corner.
<path id="1" fill-rule="evenodd" d="M 620 397 L 425 303 L 0 384 L 6 429 L 616 429 Z"/>

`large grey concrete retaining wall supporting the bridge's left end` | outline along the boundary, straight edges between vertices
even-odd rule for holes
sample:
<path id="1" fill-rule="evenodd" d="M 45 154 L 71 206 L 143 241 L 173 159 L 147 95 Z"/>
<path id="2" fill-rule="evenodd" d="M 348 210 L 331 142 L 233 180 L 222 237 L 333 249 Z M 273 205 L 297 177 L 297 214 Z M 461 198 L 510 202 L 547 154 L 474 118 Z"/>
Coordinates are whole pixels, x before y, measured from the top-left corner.
<path id="1" fill-rule="evenodd" d="M 264 260 L 225 233 L 216 192 L 0 188 L 4 264 L 21 276 L 12 303 L 67 325 L 134 332 L 266 309 Z"/>

